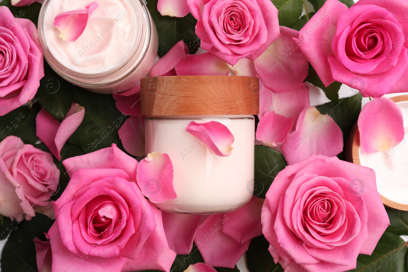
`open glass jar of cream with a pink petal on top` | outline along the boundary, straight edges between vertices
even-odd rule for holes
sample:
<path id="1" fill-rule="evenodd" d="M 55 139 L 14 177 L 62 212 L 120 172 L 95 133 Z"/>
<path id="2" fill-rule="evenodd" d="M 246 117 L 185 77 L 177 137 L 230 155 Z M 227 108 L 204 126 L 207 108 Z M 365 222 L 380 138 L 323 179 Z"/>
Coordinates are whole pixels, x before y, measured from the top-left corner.
<path id="1" fill-rule="evenodd" d="M 86 26 L 76 40 L 67 40 L 67 33 L 54 25 L 57 15 L 87 11 L 82 24 Z M 67 21 L 67 28 L 81 27 L 75 17 Z M 142 0 L 45 0 L 38 35 L 52 69 L 96 93 L 118 93 L 135 86 L 149 73 L 157 55 L 157 30 Z"/>

